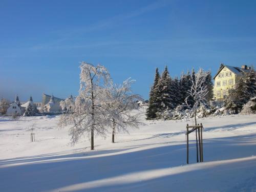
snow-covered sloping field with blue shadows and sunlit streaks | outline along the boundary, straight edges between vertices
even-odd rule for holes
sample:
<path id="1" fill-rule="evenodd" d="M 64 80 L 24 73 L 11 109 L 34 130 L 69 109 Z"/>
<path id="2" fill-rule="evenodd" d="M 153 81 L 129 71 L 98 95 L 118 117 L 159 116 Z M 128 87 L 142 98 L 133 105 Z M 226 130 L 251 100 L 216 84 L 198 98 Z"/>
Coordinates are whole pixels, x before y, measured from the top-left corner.
<path id="1" fill-rule="evenodd" d="M 143 120 L 114 144 L 111 135 L 97 137 L 95 151 L 88 138 L 70 146 L 68 127 L 57 121 L 0 117 L 0 191 L 256 191 L 256 115 L 199 119 L 205 162 L 195 163 L 189 135 L 189 165 L 185 126 L 192 121 Z"/>

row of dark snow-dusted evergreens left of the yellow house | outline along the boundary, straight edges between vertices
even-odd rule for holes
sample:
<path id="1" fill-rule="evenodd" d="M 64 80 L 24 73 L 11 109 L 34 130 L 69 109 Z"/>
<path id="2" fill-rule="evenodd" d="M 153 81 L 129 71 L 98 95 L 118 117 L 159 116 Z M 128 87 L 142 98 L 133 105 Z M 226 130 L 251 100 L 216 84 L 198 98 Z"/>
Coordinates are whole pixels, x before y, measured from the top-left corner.
<path id="1" fill-rule="evenodd" d="M 207 94 L 204 99 L 210 101 L 213 98 L 211 72 L 207 71 L 202 73 L 204 81 L 200 86 L 202 88 L 206 87 Z M 189 71 L 186 74 L 182 73 L 180 78 L 172 78 L 168 72 L 167 66 L 165 66 L 161 76 L 158 68 L 156 68 L 154 83 L 150 91 L 146 118 L 159 119 L 161 117 L 158 114 L 165 110 L 175 109 L 179 105 L 186 105 L 187 107 L 194 106 L 196 101 L 195 98 L 193 98 L 193 95 L 190 95 L 191 93 L 189 93 L 189 90 L 193 88 L 195 82 L 196 72 L 194 69 L 191 70 L 191 73 Z"/>

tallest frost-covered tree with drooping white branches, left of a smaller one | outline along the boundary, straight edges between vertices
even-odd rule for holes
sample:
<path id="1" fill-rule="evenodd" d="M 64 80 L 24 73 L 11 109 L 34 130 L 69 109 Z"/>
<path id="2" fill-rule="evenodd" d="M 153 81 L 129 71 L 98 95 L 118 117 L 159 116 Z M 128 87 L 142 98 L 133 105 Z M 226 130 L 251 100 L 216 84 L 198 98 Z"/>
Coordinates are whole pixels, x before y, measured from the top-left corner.
<path id="1" fill-rule="evenodd" d="M 75 106 L 69 113 L 61 115 L 59 124 L 73 125 L 70 129 L 72 144 L 87 134 L 91 138 L 91 150 L 94 150 L 94 136 L 104 137 L 108 131 L 108 114 L 101 105 L 104 104 L 102 96 L 112 80 L 104 66 L 81 62 L 80 69 L 80 89 Z"/>

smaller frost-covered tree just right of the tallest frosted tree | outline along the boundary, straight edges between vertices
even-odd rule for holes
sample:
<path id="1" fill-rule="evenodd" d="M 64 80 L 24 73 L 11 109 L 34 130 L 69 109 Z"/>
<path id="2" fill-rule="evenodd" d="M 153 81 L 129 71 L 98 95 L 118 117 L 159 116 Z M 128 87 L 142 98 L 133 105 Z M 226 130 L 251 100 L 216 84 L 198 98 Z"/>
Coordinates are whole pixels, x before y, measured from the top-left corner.
<path id="1" fill-rule="evenodd" d="M 138 108 L 136 100 L 141 100 L 139 95 L 132 93 L 133 82 L 134 80 L 127 79 L 120 86 L 112 84 L 105 92 L 106 96 L 101 107 L 107 112 L 111 122 L 109 127 L 112 131 L 112 143 L 115 142 L 115 135 L 118 132 L 127 132 L 127 126 L 138 128 L 138 125 L 142 124 L 139 121 L 139 113 L 133 112 Z"/>

